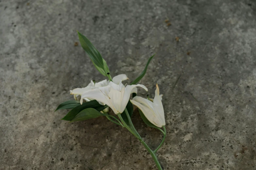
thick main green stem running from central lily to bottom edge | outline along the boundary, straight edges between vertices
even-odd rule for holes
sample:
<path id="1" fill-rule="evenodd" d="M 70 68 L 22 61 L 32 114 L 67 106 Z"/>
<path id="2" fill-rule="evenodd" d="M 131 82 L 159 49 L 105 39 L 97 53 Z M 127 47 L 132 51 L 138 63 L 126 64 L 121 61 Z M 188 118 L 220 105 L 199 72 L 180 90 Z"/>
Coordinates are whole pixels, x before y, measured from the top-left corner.
<path id="1" fill-rule="evenodd" d="M 139 141 L 144 145 L 144 147 L 145 147 L 145 148 L 147 149 L 147 151 L 150 153 L 150 155 L 152 156 L 152 158 L 153 158 L 155 164 L 157 165 L 158 170 L 162 170 L 162 167 L 161 167 L 161 165 L 160 165 L 160 163 L 159 163 L 159 161 L 158 161 L 158 159 L 157 159 L 156 154 L 154 153 L 153 150 L 151 150 L 151 149 L 147 146 L 147 144 L 144 142 L 144 140 L 142 139 L 142 137 L 139 135 L 139 133 L 136 131 L 135 127 L 133 126 L 133 123 L 132 123 L 132 121 L 131 121 L 130 115 L 129 115 L 128 110 L 127 110 L 126 108 L 125 108 L 125 113 L 126 113 L 126 116 L 128 117 L 129 124 L 130 124 L 132 130 L 133 130 L 134 133 L 136 134 L 136 135 L 134 135 L 134 136 L 139 139 Z M 118 117 L 119 117 L 119 114 L 118 114 Z M 120 117 L 122 118 L 121 115 L 120 115 Z M 121 120 L 121 121 L 122 121 L 122 120 Z M 122 121 L 122 123 L 126 124 L 126 123 L 123 122 L 123 121 Z"/>

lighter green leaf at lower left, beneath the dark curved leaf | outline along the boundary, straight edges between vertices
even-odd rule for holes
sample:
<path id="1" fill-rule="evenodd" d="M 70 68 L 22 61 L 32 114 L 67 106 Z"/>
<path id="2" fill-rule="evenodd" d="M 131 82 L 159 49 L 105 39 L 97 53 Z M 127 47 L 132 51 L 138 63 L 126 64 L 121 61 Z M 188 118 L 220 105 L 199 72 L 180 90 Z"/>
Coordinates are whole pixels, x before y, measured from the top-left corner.
<path id="1" fill-rule="evenodd" d="M 93 119 L 93 118 L 97 118 L 99 116 L 108 116 L 108 115 L 100 113 L 99 111 L 95 110 L 94 108 L 87 108 L 87 109 L 80 111 L 76 115 L 76 117 L 74 119 L 72 119 L 70 122 Z"/>

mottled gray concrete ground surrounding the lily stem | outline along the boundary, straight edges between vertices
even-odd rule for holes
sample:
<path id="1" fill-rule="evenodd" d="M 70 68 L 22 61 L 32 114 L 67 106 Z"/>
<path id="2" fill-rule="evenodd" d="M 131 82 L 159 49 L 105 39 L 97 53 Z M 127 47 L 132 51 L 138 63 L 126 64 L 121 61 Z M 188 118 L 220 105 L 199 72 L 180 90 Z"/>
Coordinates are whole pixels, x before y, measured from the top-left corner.
<path id="1" fill-rule="evenodd" d="M 74 46 L 76 30 L 128 83 L 156 53 L 140 95 L 156 83 L 164 94 L 165 170 L 256 169 L 255 20 L 254 0 L 0 0 L 0 169 L 156 169 L 126 129 L 54 112 L 69 90 L 104 78 Z M 157 147 L 162 135 L 137 110 L 132 120 Z"/>

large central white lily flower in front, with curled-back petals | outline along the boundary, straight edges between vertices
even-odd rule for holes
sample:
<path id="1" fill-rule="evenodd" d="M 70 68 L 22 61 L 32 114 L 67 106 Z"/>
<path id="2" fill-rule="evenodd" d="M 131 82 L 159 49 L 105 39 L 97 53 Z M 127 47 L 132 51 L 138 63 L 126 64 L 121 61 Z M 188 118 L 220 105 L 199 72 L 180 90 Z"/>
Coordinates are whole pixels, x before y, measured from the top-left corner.
<path id="1" fill-rule="evenodd" d="M 98 87 L 84 92 L 81 95 L 80 103 L 83 103 L 84 98 L 90 98 L 108 105 L 115 114 L 123 113 L 131 92 L 137 86 L 147 91 L 147 88 L 142 84 L 127 85 L 125 87 L 122 84 L 122 80 L 120 80 L 119 84 L 110 82 L 109 85 L 105 87 Z"/>

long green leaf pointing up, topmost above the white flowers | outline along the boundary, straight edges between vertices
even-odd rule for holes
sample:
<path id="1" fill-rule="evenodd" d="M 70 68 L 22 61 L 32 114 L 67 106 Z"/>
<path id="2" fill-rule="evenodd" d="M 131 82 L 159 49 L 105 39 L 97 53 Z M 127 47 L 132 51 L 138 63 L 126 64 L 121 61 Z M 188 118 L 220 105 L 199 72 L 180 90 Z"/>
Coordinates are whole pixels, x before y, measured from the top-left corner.
<path id="1" fill-rule="evenodd" d="M 77 34 L 78 34 L 79 41 L 81 43 L 82 48 L 89 55 L 96 69 L 103 76 L 107 76 L 107 73 L 110 72 L 109 67 L 106 61 L 101 57 L 99 51 L 93 46 L 93 44 L 89 41 L 88 38 L 86 38 L 84 35 L 82 35 L 78 31 L 77 31 Z"/>

